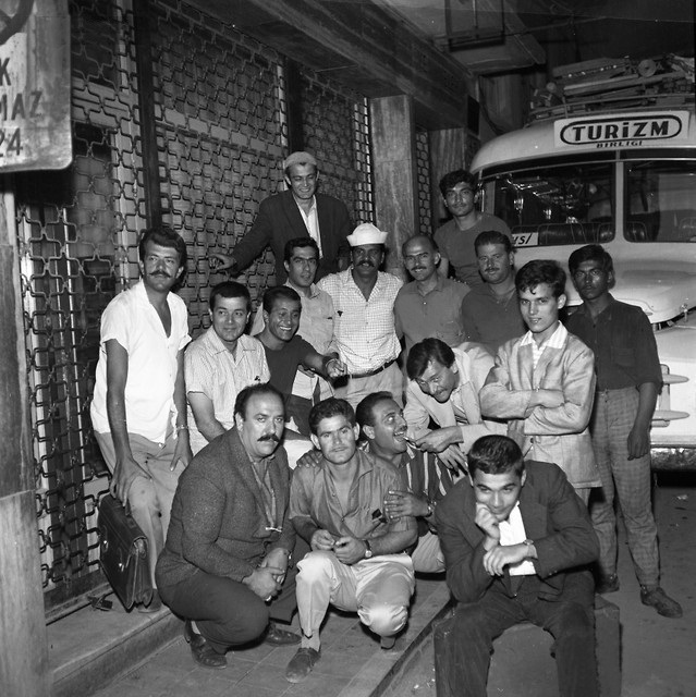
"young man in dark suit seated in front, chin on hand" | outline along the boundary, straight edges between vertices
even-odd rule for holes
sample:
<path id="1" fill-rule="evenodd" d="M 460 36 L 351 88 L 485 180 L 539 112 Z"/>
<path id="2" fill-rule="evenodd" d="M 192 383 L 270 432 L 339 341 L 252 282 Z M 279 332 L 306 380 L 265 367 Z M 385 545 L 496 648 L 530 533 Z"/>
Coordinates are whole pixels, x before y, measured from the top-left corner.
<path id="1" fill-rule="evenodd" d="M 505 436 L 480 438 L 467 460 L 468 478 L 436 510 L 447 583 L 459 603 L 438 685 L 486 697 L 493 639 L 528 621 L 555 640 L 561 697 L 596 697 L 586 565 L 599 542 L 586 508 L 557 465 L 525 463 Z"/>

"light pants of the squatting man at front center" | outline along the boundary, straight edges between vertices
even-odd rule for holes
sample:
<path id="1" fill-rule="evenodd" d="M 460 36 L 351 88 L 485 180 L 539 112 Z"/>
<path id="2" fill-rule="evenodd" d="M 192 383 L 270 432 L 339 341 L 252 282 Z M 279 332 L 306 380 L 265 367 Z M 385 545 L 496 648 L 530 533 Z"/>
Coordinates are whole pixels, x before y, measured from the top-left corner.
<path id="1" fill-rule="evenodd" d="M 406 624 L 415 588 L 408 554 L 382 554 L 349 566 L 333 552 L 313 551 L 297 568 L 303 647 L 319 650 L 319 627 L 329 603 L 357 612 L 361 622 L 379 636 L 393 636 Z"/>

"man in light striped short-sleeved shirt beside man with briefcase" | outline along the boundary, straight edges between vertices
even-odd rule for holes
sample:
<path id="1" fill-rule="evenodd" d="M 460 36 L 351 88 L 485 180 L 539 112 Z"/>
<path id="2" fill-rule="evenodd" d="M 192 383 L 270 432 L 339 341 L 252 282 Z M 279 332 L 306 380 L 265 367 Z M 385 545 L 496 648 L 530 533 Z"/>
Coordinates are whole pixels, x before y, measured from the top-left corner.
<path id="1" fill-rule="evenodd" d="M 208 304 L 211 326 L 184 357 L 194 455 L 234 426 L 236 395 L 270 379 L 264 346 L 244 333 L 252 309 L 246 286 L 234 281 L 218 283 Z"/>

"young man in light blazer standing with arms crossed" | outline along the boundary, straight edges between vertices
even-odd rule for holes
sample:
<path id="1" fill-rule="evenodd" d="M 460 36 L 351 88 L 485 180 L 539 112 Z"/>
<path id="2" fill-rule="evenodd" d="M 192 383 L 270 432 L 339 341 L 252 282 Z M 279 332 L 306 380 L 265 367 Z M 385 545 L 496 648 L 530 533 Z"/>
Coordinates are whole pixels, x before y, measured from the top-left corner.
<path id="1" fill-rule="evenodd" d="M 554 462 L 581 498 L 600 486 L 588 424 L 595 357 L 559 321 L 565 272 L 555 261 L 525 264 L 515 277 L 529 331 L 499 347 L 480 392 L 481 412 L 508 420 L 508 436 L 525 457 Z"/>

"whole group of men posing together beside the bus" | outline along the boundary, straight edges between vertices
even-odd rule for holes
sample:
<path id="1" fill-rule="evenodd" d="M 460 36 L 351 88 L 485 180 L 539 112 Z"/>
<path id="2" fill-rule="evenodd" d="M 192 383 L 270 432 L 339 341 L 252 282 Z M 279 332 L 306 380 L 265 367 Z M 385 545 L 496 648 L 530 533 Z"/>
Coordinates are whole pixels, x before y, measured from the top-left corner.
<path id="1" fill-rule="evenodd" d="M 146 231 L 141 282 L 105 310 L 91 417 L 112 491 L 149 541 L 157 592 L 138 609 L 163 600 L 184 617 L 208 668 L 260 637 L 300 643 L 286 677 L 301 682 L 329 604 L 389 649 L 414 573 L 444 571 L 465 694 L 485 695 L 492 639 L 525 619 L 555 637 L 561 694 L 597 694 L 588 568 L 599 591 L 618 588 L 614 496 L 642 601 L 681 616 L 659 586 L 650 511 L 655 339 L 609 293 L 611 257 L 571 255 L 584 302 L 564 326 L 564 271 L 515 273 L 510 231 L 476 210 L 460 170 L 441 182 L 452 220 L 403 245 L 403 284 L 380 270 L 387 233 L 351 231 L 345 206 L 317 193 L 313 156 L 284 172 L 289 189 L 218 255 L 236 273 L 273 249 L 283 284 L 253 335 L 248 290 L 225 281 L 187 345 L 173 292 L 186 246 L 167 228 Z M 295 609 L 301 636 L 277 624 Z"/>

